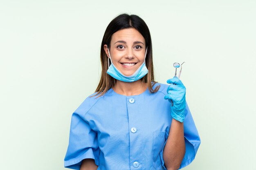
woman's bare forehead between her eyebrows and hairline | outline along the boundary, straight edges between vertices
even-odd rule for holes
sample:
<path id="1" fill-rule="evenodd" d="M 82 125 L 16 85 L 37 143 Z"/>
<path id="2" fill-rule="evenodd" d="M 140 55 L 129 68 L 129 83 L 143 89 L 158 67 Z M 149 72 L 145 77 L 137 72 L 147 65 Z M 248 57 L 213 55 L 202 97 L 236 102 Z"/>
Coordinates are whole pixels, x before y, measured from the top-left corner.
<path id="1" fill-rule="evenodd" d="M 139 31 L 137 31 L 134 28 L 121 29 L 115 32 L 112 35 L 111 42 L 115 43 L 116 41 L 119 41 L 119 40 L 124 40 L 127 43 L 128 42 L 133 43 L 134 41 L 141 41 L 141 42 L 144 42 L 145 44 L 144 37 L 141 35 L 141 33 L 139 33 Z"/>

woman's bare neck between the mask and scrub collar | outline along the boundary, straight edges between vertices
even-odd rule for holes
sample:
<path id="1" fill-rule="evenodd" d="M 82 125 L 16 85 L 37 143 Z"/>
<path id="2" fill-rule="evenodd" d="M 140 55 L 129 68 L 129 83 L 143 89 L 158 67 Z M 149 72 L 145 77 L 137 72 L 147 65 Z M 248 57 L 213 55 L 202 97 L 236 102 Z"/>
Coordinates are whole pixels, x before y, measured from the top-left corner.
<path id="1" fill-rule="evenodd" d="M 147 88 L 147 84 L 143 83 L 141 79 L 135 82 L 122 82 L 117 80 L 113 90 L 120 95 L 131 96 L 139 95 L 146 91 Z"/>

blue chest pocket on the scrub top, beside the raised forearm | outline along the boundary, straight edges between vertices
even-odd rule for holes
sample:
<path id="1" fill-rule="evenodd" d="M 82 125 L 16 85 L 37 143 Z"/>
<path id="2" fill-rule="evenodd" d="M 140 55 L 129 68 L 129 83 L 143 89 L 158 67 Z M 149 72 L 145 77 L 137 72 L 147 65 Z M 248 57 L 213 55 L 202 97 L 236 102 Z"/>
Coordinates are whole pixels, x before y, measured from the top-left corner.
<path id="1" fill-rule="evenodd" d="M 161 165 L 161 159 L 159 152 L 162 150 L 164 146 L 164 142 L 166 140 L 166 132 L 165 131 L 155 131 L 153 132 L 153 148 L 152 148 L 152 155 L 153 155 L 153 166 L 157 168 Z"/>

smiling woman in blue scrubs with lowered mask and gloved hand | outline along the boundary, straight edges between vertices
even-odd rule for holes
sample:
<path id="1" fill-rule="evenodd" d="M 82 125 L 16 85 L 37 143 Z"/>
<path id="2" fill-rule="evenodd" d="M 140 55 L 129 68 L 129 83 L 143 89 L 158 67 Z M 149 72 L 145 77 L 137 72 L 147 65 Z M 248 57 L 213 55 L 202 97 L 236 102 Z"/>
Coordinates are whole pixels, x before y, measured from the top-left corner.
<path id="1" fill-rule="evenodd" d="M 65 167 L 177 170 L 195 158 L 200 137 L 177 78 L 154 81 L 148 26 L 121 14 L 101 43 L 96 92 L 72 114 Z M 168 100 L 166 100 L 168 99 Z"/>

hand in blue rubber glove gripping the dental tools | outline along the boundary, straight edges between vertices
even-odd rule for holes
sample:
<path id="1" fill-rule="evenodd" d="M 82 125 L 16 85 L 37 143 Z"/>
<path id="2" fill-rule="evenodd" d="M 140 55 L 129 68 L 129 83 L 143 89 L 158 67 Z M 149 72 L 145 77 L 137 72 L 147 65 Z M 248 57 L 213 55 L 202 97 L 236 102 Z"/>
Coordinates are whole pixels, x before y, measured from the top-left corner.
<path id="1" fill-rule="evenodd" d="M 167 83 L 170 85 L 167 88 L 168 94 L 164 96 L 164 99 L 168 99 L 169 102 L 173 101 L 171 116 L 177 121 L 183 122 L 186 108 L 186 87 L 180 79 L 175 77 L 168 79 Z"/>

